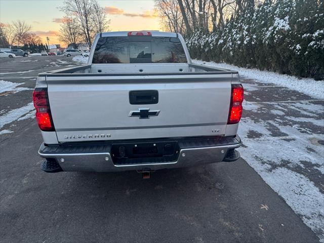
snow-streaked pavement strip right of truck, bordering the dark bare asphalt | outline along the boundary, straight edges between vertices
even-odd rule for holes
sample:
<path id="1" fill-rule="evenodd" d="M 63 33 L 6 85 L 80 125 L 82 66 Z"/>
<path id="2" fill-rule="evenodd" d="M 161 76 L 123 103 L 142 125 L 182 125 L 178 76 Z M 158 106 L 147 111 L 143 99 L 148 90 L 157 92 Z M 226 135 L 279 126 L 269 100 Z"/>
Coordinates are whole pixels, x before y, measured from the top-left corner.
<path id="1" fill-rule="evenodd" d="M 324 101 L 243 77 L 239 149 L 324 240 Z"/>

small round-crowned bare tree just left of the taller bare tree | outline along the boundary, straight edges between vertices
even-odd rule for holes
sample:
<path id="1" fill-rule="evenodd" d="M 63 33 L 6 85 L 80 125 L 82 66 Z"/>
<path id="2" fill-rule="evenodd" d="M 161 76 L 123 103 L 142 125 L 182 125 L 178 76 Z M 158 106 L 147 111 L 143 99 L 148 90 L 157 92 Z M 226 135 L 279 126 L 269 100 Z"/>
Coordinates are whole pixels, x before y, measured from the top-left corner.
<path id="1" fill-rule="evenodd" d="M 59 39 L 66 45 L 73 44 L 76 49 L 76 44 L 82 39 L 82 33 L 80 33 L 80 25 L 76 18 L 64 17 L 62 19 L 61 28 L 59 30 Z"/>

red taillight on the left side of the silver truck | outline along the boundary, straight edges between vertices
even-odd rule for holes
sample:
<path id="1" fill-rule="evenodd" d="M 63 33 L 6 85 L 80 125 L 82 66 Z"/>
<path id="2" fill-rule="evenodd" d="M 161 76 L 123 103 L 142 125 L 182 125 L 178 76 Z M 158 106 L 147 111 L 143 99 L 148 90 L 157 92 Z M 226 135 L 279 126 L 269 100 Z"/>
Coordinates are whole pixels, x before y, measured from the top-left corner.
<path id="1" fill-rule="evenodd" d="M 36 88 L 32 93 L 34 107 L 36 108 L 36 120 L 42 131 L 55 131 L 47 88 Z"/>

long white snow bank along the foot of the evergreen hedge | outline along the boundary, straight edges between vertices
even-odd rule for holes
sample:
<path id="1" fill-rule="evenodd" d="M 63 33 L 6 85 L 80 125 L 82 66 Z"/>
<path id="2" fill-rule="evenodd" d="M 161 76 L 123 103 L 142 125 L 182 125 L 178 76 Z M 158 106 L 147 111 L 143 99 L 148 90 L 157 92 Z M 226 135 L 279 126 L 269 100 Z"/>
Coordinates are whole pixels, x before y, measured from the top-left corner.
<path id="1" fill-rule="evenodd" d="M 225 69 L 236 70 L 242 76 L 248 78 L 257 79 L 258 81 L 266 84 L 275 84 L 282 87 L 286 87 L 298 92 L 304 93 L 316 99 L 324 99 L 324 81 L 315 81 L 312 78 L 297 78 L 295 76 L 289 76 L 287 74 L 279 74 L 270 71 L 261 71 L 258 69 L 248 69 L 243 67 L 237 67 L 226 63 L 204 62 L 200 60 L 192 60 L 194 63 L 221 67 Z"/>

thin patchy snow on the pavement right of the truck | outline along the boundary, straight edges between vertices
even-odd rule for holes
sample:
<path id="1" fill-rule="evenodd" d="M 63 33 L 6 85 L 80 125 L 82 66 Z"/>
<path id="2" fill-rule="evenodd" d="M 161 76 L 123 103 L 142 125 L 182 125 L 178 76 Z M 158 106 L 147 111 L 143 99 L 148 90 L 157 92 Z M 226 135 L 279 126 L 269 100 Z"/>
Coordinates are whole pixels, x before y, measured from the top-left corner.
<path id="1" fill-rule="evenodd" d="M 247 109 L 247 107 L 255 107 L 256 103 L 245 101 L 243 106 L 244 109 Z M 296 103 L 280 103 L 280 106 L 286 106 L 287 109 L 273 105 L 281 110 L 288 110 L 296 106 Z M 302 106 L 310 112 L 315 112 L 318 108 L 307 101 L 303 102 Z M 284 113 L 280 112 L 278 108 L 270 110 L 270 112 Z M 268 113 L 264 107 L 254 109 L 254 111 Z M 317 117 L 316 113 L 310 112 L 308 115 Z M 245 145 L 238 149 L 241 156 L 274 191 L 285 199 L 294 212 L 301 216 L 303 222 L 321 238 L 321 242 L 324 242 L 324 229 L 322 228 L 324 225 L 324 195 L 314 182 L 303 174 L 307 171 L 310 172 L 309 169 L 317 170 L 321 176 L 324 174 L 324 151 L 322 145 L 317 142 L 324 138 L 322 134 L 311 133 L 311 130 L 302 129 L 300 125 L 296 124 L 312 123 L 322 127 L 324 120 L 322 118 L 285 116 L 285 119 L 292 120 L 292 124 L 295 121 L 295 125 L 284 126 L 282 124 L 286 123 L 282 122 L 282 118 L 256 120 L 253 117 L 253 115 L 251 118 L 243 117 L 238 127 L 238 135 Z M 287 136 L 273 135 L 273 127 L 278 129 L 279 133 L 287 134 Z M 251 131 L 262 136 L 251 137 Z M 264 149 L 265 144 L 266 149 Z M 305 168 L 305 165 L 309 168 Z"/>

